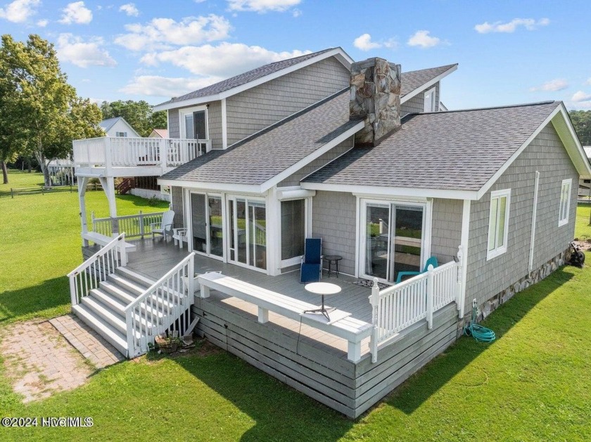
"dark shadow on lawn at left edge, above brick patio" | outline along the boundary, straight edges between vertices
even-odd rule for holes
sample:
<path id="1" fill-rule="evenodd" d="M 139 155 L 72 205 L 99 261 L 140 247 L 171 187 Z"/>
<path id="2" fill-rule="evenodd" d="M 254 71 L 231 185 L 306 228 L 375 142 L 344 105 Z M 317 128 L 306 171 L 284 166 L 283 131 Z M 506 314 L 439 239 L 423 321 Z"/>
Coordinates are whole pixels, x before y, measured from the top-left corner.
<path id="1" fill-rule="evenodd" d="M 69 309 L 70 286 L 68 278 L 61 276 L 42 284 L 0 293 L 0 325 L 14 320 L 50 318 L 60 309 Z"/>

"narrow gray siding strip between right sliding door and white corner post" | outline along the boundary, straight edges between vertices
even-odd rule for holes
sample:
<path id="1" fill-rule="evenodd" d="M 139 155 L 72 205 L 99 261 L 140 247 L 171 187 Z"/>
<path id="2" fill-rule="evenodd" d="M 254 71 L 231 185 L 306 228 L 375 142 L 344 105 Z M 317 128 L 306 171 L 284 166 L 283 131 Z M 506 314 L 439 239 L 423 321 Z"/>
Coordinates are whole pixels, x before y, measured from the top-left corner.
<path id="1" fill-rule="evenodd" d="M 433 200 L 431 221 L 431 255 L 440 263 L 453 261 L 457 247 L 462 242 L 461 200 Z"/>

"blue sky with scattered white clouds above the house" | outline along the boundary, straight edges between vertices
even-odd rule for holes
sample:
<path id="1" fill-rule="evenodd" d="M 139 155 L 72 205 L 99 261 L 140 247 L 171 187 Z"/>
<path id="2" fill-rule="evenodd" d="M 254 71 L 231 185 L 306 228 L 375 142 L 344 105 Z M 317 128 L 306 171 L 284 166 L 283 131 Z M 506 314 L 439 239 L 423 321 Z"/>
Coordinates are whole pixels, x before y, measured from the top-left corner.
<path id="1" fill-rule="evenodd" d="M 80 96 L 151 104 L 341 46 L 402 70 L 459 63 L 450 109 L 591 109 L 589 1 L 0 0 L 0 33 L 53 42 Z"/>

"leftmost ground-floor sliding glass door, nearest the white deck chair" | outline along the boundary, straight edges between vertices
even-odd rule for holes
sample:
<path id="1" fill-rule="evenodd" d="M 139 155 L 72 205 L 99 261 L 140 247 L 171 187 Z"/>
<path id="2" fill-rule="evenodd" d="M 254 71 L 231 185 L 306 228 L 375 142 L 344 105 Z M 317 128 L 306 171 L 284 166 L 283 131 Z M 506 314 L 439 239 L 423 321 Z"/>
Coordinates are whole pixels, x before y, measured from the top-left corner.
<path id="1" fill-rule="evenodd" d="M 222 197 L 191 193 L 191 231 L 193 251 L 224 256 Z"/>

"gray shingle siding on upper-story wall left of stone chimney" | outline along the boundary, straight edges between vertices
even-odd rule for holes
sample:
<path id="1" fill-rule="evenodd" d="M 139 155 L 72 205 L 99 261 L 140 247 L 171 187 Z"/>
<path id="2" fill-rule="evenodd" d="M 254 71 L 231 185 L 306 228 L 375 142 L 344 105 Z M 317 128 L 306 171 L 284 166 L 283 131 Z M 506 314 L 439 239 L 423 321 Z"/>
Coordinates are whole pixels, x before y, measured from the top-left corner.
<path id="1" fill-rule="evenodd" d="M 228 145 L 340 91 L 349 77 L 331 57 L 228 97 Z"/>

